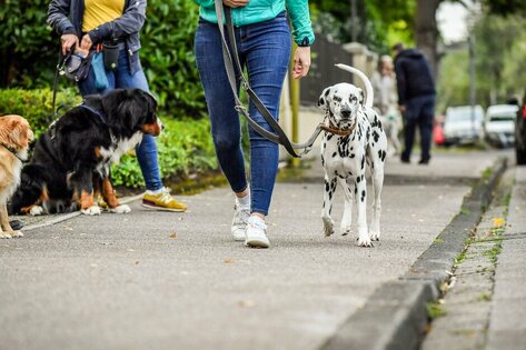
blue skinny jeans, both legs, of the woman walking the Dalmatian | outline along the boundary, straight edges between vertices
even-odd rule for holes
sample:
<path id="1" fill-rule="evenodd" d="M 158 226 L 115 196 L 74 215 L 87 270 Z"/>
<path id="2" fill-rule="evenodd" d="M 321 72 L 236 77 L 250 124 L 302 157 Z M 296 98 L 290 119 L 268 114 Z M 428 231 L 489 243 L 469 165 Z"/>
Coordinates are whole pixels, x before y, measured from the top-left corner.
<path id="1" fill-rule="evenodd" d="M 291 48 L 285 12 L 272 20 L 236 28 L 236 40 L 239 60 L 248 72 L 250 87 L 277 120 Z M 199 20 L 195 48 L 216 154 L 231 189 L 241 192 L 248 186 L 241 150 L 241 128 L 225 70 L 217 24 Z M 261 127 L 271 130 L 251 102 L 249 113 Z M 249 139 L 251 212 L 266 216 L 278 170 L 279 148 L 251 128 Z"/>

